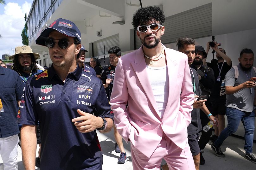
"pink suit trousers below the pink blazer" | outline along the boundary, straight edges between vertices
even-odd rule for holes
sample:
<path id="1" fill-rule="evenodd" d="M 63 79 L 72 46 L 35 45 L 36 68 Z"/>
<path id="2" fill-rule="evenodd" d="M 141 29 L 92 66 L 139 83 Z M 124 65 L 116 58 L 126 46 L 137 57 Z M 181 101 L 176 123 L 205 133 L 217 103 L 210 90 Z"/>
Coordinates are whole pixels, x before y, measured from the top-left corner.
<path id="1" fill-rule="evenodd" d="M 131 144 L 131 158 L 133 170 L 160 170 L 162 159 L 167 162 L 170 170 L 195 170 L 188 142 L 185 149 L 181 149 L 166 135 L 163 135 L 160 144 L 150 158 Z"/>

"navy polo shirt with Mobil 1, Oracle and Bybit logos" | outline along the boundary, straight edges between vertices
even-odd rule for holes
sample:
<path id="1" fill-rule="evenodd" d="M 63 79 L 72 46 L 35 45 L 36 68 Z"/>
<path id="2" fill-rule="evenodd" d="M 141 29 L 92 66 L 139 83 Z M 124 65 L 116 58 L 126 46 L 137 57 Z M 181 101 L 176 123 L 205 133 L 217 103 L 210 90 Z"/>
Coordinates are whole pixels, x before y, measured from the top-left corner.
<path id="1" fill-rule="evenodd" d="M 101 80 L 78 65 L 65 83 L 53 67 L 30 77 L 18 122 L 40 124 L 42 169 L 101 169 L 102 153 L 96 131 L 81 133 L 71 121 L 77 109 L 113 118 Z"/>

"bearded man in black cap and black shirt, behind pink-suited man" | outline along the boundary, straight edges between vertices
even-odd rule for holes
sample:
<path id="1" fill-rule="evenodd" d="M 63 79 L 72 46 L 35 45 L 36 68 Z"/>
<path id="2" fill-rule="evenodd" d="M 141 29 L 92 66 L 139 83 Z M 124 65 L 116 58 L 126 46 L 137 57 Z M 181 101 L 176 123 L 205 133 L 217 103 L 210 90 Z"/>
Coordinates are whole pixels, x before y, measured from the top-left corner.
<path id="1" fill-rule="evenodd" d="M 214 72 L 212 68 L 208 67 L 207 65 L 203 65 L 203 59 L 207 57 L 207 53 L 204 51 L 204 48 L 200 45 L 196 45 L 195 49 L 197 51 L 195 60 L 190 67 L 194 68 L 198 73 L 199 86 L 202 91 L 202 94 L 207 95 L 209 97 L 209 95 L 211 94 L 210 89 L 214 87 Z M 211 103 L 207 100 L 205 102 L 205 105 L 207 108 L 209 108 Z M 209 118 L 202 111 L 202 109 L 200 109 L 200 120 L 202 127 L 204 127 L 209 122 Z M 208 132 L 201 132 L 202 135 L 198 141 L 200 150 L 204 149 L 204 147 L 208 143 L 212 134 L 212 129 L 209 130 Z M 204 163 L 205 160 L 203 158 L 202 152 L 200 152 L 200 165 L 204 165 Z"/>

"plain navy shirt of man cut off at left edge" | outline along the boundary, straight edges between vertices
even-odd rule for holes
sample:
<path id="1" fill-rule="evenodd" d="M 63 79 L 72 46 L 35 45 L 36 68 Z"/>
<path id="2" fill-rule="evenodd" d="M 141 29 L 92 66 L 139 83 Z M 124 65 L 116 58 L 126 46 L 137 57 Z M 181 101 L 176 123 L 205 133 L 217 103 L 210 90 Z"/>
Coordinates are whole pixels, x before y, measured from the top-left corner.
<path id="1" fill-rule="evenodd" d="M 0 99 L 3 112 L 0 113 L 0 138 L 18 134 L 17 126 L 18 105 L 21 100 L 24 83 L 16 71 L 0 67 Z"/>

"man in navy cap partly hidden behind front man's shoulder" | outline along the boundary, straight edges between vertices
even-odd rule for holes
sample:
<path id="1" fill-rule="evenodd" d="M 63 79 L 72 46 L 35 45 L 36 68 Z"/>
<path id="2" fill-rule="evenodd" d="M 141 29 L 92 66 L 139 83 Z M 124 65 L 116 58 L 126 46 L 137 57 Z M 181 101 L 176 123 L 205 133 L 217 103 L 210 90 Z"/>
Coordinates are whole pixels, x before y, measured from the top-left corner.
<path id="1" fill-rule="evenodd" d="M 94 76 L 96 76 L 96 72 L 93 69 L 93 67 L 87 66 L 85 65 L 85 52 L 88 52 L 85 47 L 82 45 L 81 46 L 81 50 L 79 51 L 79 53 L 76 55 L 76 62 L 78 63 L 79 67 L 83 68 L 84 71 L 86 71 L 87 73 L 93 74 Z"/>

